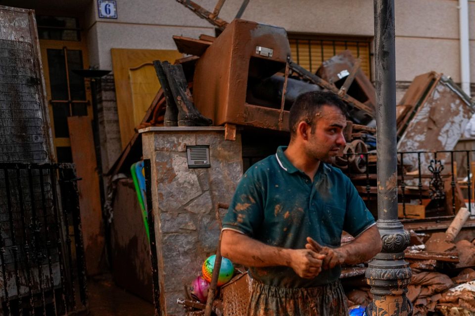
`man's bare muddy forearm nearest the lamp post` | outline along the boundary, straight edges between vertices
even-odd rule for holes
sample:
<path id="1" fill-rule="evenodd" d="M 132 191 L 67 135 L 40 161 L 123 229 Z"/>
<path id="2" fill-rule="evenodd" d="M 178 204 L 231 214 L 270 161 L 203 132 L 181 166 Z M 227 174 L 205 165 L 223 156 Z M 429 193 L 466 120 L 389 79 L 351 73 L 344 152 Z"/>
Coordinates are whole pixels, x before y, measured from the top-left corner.
<path id="1" fill-rule="evenodd" d="M 345 253 L 345 264 L 354 265 L 368 261 L 381 251 L 381 237 L 376 225 L 370 227 L 352 242 L 339 248 Z"/>

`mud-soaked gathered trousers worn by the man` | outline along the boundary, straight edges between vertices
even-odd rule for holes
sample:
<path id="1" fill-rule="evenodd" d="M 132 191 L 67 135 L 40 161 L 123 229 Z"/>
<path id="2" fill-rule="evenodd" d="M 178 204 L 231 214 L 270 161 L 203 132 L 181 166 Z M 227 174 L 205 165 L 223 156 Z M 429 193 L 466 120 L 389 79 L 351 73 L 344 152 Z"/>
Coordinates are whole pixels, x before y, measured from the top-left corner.
<path id="1" fill-rule="evenodd" d="M 285 288 L 253 281 L 248 316 L 346 316 L 339 280 L 310 288 Z"/>

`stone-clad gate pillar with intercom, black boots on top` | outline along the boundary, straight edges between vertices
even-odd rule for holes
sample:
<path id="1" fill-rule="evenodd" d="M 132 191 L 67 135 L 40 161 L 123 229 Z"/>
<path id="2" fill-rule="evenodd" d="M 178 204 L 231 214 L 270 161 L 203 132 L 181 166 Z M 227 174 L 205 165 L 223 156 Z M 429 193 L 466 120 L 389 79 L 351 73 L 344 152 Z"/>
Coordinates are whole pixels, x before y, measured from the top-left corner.
<path id="1" fill-rule="evenodd" d="M 149 127 L 141 130 L 143 158 L 151 161 L 160 306 L 185 315 L 177 298 L 201 273 L 219 237 L 216 205 L 229 203 L 242 175 L 240 135 L 222 127 Z M 209 168 L 188 168 L 187 146 L 209 145 Z M 222 210 L 224 212 L 224 210 Z"/>

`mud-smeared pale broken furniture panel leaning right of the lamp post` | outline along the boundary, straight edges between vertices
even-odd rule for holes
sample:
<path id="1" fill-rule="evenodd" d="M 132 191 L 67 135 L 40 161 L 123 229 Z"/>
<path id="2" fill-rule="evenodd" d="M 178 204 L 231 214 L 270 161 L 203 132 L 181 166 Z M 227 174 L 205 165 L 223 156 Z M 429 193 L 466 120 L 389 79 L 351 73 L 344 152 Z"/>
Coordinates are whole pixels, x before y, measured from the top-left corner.
<path id="1" fill-rule="evenodd" d="M 453 150 L 475 112 L 470 97 L 450 77 L 435 72 L 417 76 L 397 109 L 398 152 Z M 427 167 L 430 158 L 421 159 Z M 417 166 L 417 157 L 405 161 Z"/>

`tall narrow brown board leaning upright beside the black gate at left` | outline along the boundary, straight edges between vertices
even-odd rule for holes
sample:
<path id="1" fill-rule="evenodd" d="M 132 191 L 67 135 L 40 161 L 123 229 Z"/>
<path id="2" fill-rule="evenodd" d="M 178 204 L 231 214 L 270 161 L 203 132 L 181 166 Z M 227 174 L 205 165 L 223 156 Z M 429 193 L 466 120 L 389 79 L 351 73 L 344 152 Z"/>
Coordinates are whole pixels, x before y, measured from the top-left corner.
<path id="1" fill-rule="evenodd" d="M 79 206 L 83 227 L 86 267 L 89 275 L 100 273 L 104 231 L 99 196 L 99 178 L 94 151 L 93 127 L 88 117 L 68 118 L 73 162 L 78 177 Z"/>

